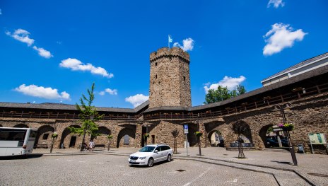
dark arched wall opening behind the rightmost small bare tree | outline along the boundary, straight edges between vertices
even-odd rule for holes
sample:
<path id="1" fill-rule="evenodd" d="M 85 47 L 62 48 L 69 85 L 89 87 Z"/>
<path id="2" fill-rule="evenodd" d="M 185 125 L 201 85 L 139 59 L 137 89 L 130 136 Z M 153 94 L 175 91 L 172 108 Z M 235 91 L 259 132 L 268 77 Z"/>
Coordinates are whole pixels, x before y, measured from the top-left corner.
<path id="1" fill-rule="evenodd" d="M 235 134 L 237 134 L 237 136 L 238 136 L 238 134 L 240 134 L 240 139 L 242 139 L 242 143 L 245 143 L 245 144 L 253 143 L 250 125 L 247 124 L 247 122 L 244 122 L 242 120 L 235 122 L 233 124 L 233 132 L 235 132 Z M 235 139 L 235 141 L 237 142 L 238 139 Z"/>

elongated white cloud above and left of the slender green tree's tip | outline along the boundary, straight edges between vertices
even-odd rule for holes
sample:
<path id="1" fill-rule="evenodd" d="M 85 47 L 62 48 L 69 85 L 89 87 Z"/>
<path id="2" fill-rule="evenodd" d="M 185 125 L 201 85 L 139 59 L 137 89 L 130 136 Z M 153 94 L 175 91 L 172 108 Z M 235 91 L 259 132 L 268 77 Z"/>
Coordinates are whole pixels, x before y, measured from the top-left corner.
<path id="1" fill-rule="evenodd" d="M 78 59 L 64 59 L 61 61 L 59 66 L 71 69 L 73 71 L 90 71 L 91 74 L 98 74 L 102 75 L 106 78 L 112 78 L 114 74 L 108 73 L 104 68 L 102 67 L 95 67 L 92 64 L 83 64 L 80 60 Z"/>

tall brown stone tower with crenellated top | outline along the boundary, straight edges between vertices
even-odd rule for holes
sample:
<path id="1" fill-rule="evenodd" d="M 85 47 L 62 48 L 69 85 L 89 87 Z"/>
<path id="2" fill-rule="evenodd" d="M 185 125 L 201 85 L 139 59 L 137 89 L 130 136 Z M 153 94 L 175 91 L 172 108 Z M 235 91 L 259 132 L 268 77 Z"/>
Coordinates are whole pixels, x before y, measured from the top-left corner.
<path id="1" fill-rule="evenodd" d="M 191 107 L 189 54 L 178 47 L 152 52 L 149 108 Z"/>

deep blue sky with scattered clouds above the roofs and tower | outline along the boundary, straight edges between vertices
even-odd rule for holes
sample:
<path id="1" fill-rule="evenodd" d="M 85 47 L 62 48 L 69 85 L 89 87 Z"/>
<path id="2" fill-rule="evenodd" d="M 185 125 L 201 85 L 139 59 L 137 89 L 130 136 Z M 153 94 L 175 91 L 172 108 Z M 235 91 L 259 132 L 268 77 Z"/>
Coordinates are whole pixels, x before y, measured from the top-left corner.
<path id="1" fill-rule="evenodd" d="M 149 54 L 190 54 L 192 105 L 328 52 L 328 1 L 0 1 L 0 101 L 101 107 L 147 99 Z"/>

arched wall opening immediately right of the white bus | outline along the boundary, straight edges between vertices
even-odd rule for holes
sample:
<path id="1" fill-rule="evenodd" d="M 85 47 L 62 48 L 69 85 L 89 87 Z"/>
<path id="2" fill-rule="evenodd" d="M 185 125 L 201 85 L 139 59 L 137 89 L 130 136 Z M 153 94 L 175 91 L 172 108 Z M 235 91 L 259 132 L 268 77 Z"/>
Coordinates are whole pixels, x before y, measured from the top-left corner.
<path id="1" fill-rule="evenodd" d="M 46 144 L 47 146 L 50 146 L 52 134 L 54 134 L 54 127 L 49 125 L 41 126 L 37 129 L 34 146 L 37 146 L 38 144 Z"/>

